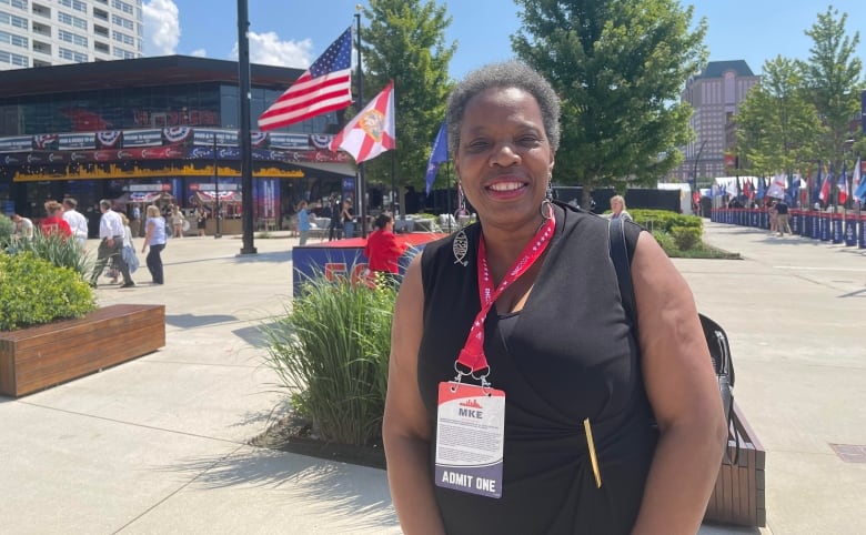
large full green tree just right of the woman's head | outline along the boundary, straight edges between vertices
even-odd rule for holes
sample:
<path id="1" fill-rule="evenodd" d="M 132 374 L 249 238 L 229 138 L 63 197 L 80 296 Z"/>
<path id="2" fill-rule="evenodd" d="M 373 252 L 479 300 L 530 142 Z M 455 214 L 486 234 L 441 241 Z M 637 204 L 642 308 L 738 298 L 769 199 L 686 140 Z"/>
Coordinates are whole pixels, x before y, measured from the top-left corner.
<path id="1" fill-rule="evenodd" d="M 682 161 L 692 109 L 678 95 L 705 61 L 706 21 L 676 0 L 515 0 L 518 58 L 562 99 L 557 182 L 598 186 L 655 184 Z"/>

